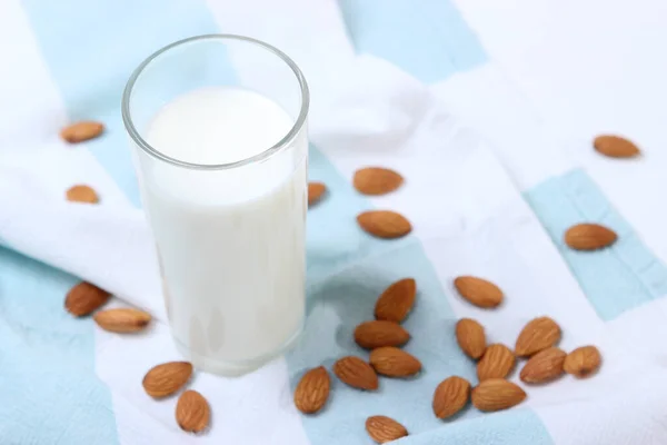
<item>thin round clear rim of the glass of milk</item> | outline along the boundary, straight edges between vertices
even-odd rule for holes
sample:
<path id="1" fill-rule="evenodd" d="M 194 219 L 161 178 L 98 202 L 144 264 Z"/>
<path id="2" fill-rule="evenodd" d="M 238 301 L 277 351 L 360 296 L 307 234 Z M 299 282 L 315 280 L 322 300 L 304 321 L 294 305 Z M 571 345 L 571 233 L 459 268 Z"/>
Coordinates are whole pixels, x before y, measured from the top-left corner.
<path id="1" fill-rule="evenodd" d="M 151 145 L 148 144 L 148 141 L 146 141 L 146 139 L 143 139 L 141 137 L 141 135 L 135 127 L 135 122 L 132 121 L 132 116 L 130 113 L 130 98 L 131 98 L 132 91 L 135 89 L 135 83 L 137 82 L 137 80 L 139 79 L 141 73 L 143 72 L 143 70 L 153 60 L 156 60 L 157 58 L 159 58 L 160 56 L 162 56 L 163 53 L 168 52 L 171 49 L 181 47 L 183 44 L 198 42 L 198 41 L 205 41 L 205 40 L 222 40 L 222 41 L 235 40 L 235 41 L 242 41 L 246 43 L 256 44 L 258 47 L 261 47 L 261 48 L 268 50 L 269 52 L 272 52 L 275 56 L 278 56 L 291 69 L 292 73 L 295 75 L 295 77 L 297 78 L 297 80 L 299 82 L 299 88 L 300 88 L 300 92 L 301 92 L 301 107 L 299 110 L 299 115 L 297 116 L 297 119 L 295 120 L 295 123 L 292 125 L 291 129 L 287 132 L 287 135 L 285 135 L 282 137 L 282 139 L 280 139 L 278 142 L 276 142 L 273 146 L 268 147 L 266 150 L 260 151 L 259 154 L 253 155 L 249 158 L 245 158 L 245 159 L 237 160 L 233 162 L 196 164 L 196 162 L 188 162 L 185 160 L 172 158 L 170 156 L 165 155 L 160 150 L 151 147 Z M 128 131 L 128 135 L 148 155 L 150 155 L 157 159 L 160 159 L 162 161 L 169 162 L 171 165 L 178 166 L 178 167 L 185 167 L 185 168 L 197 169 L 197 170 L 226 170 L 226 169 L 242 167 L 242 166 L 246 166 L 249 164 L 263 161 L 263 160 L 270 158 L 271 156 L 282 151 L 282 149 L 288 147 L 301 131 L 301 128 L 306 123 L 306 119 L 308 117 L 309 106 L 310 106 L 310 92 L 308 90 L 308 83 L 306 82 L 306 78 L 303 77 L 303 73 L 301 72 L 301 70 L 299 69 L 297 63 L 295 63 L 295 61 L 292 59 L 290 59 L 285 52 L 280 51 L 278 48 L 276 48 L 265 41 L 253 39 L 251 37 L 238 36 L 238 34 L 202 34 L 202 36 L 189 37 L 187 39 L 182 39 L 182 40 L 178 40 L 172 43 L 169 43 L 166 47 L 162 47 L 159 50 L 157 50 L 156 52 L 153 52 L 152 55 L 150 55 L 148 58 L 146 58 L 146 60 L 143 60 L 135 69 L 135 71 L 132 71 L 132 75 L 128 79 L 128 82 L 127 82 L 123 93 L 122 93 L 121 115 L 122 115 L 122 121 L 126 127 L 126 130 Z"/>

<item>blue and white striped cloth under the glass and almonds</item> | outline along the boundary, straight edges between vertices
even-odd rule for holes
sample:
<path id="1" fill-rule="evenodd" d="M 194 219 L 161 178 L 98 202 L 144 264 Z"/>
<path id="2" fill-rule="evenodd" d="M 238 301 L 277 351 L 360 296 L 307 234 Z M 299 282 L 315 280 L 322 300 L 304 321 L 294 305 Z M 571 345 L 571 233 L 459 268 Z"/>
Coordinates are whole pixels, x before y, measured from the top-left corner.
<path id="1" fill-rule="evenodd" d="M 0 443 L 370 444 L 364 423 L 377 414 L 407 427 L 406 445 L 667 443 L 667 65 L 655 56 L 665 19 L 650 0 L 0 2 Z M 119 105 L 150 52 L 215 32 L 267 40 L 302 68 L 310 177 L 330 195 L 309 211 L 301 342 L 241 378 L 198 374 L 191 387 L 213 418 L 195 437 L 177 426 L 175 398 L 141 388 L 147 369 L 178 355 Z M 106 135 L 60 141 L 79 119 L 103 121 Z M 590 139 L 606 131 L 631 136 L 644 156 L 596 156 Z M 350 178 L 368 164 L 396 168 L 406 185 L 359 196 Z M 61 202 L 76 182 L 102 204 Z M 369 238 L 355 216 L 371 208 L 401 211 L 414 233 Z M 580 221 L 619 241 L 569 250 L 563 233 Z M 497 283 L 506 303 L 485 312 L 462 301 L 451 281 L 464 274 Z M 334 382 L 326 409 L 300 415 L 291 393 L 303 370 L 364 355 L 354 327 L 406 276 L 418 284 L 405 326 L 420 376 L 381 379 L 374 394 Z M 81 278 L 126 299 L 112 305 L 151 310 L 153 329 L 123 337 L 72 319 L 63 296 Z M 507 412 L 432 415 L 444 378 L 477 383 L 457 319 L 514 345 L 538 315 L 561 325 L 564 349 L 597 345 L 600 373 L 530 387 Z"/>

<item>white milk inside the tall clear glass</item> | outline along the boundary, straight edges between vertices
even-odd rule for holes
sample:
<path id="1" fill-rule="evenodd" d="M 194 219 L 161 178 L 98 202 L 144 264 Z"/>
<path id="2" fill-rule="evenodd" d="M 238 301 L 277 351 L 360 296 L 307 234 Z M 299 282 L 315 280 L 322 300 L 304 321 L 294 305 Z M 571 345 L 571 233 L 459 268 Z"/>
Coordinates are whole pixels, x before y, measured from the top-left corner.
<path id="1" fill-rule="evenodd" d="M 146 140 L 175 159 L 228 164 L 265 151 L 292 125 L 259 93 L 206 88 L 167 103 Z M 228 170 L 188 169 L 139 154 L 172 335 L 205 370 L 256 368 L 301 330 L 307 145 L 303 129 L 266 161 Z"/>

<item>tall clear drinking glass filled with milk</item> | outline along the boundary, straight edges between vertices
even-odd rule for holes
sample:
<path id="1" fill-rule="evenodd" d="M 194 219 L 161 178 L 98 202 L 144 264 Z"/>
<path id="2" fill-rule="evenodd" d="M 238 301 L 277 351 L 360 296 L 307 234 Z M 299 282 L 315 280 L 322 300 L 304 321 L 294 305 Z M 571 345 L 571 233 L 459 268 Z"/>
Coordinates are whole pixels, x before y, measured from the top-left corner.
<path id="1" fill-rule="evenodd" d="M 240 36 L 172 43 L 126 87 L 171 333 L 202 370 L 247 373 L 301 332 L 308 103 L 295 62 Z"/>

